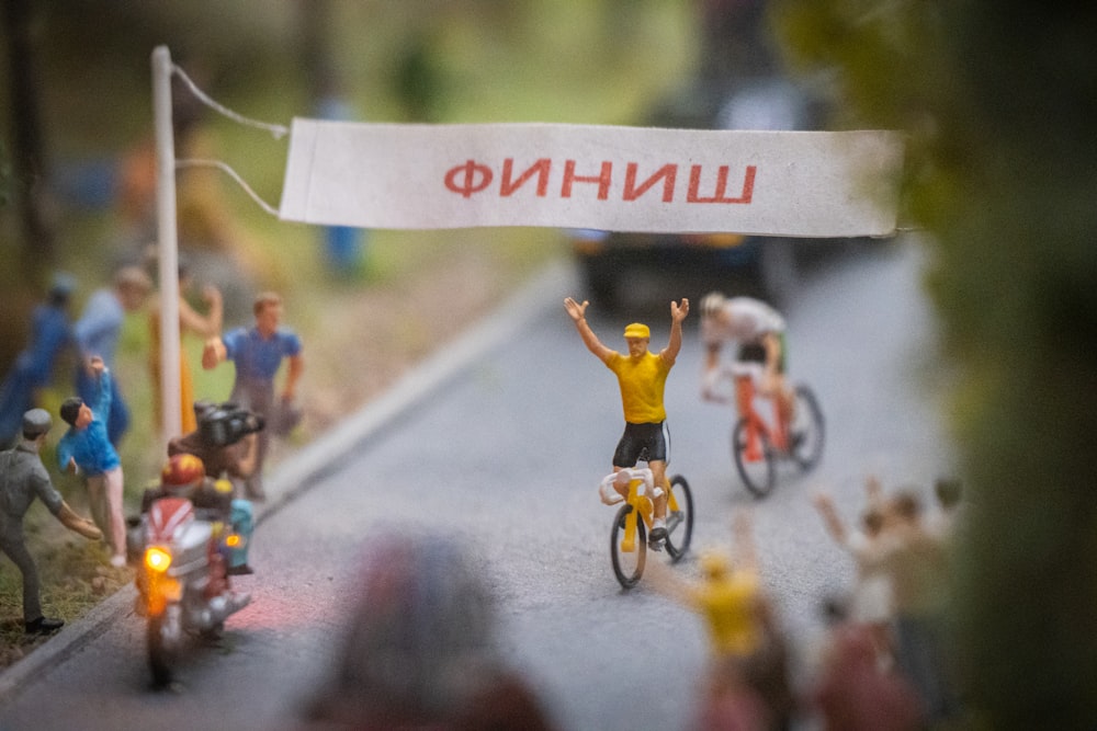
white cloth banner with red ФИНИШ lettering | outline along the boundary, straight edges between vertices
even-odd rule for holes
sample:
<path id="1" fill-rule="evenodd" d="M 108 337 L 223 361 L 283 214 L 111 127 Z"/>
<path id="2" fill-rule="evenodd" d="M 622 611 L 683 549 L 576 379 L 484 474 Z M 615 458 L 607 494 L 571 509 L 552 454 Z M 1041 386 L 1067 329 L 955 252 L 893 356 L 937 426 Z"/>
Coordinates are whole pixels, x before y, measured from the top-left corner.
<path id="1" fill-rule="evenodd" d="M 886 236 L 902 139 L 294 119 L 280 215 L 363 228 Z"/>

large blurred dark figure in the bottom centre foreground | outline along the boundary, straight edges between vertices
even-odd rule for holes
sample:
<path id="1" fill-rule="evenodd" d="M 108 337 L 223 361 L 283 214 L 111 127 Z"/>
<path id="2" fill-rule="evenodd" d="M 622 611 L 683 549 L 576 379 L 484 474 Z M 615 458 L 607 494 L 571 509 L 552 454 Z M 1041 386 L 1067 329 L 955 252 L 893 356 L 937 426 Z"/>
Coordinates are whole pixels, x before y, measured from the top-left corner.
<path id="1" fill-rule="evenodd" d="M 502 665 L 493 597 L 455 541 L 371 540 L 355 584 L 341 652 L 306 709 L 316 728 L 552 728 Z"/>

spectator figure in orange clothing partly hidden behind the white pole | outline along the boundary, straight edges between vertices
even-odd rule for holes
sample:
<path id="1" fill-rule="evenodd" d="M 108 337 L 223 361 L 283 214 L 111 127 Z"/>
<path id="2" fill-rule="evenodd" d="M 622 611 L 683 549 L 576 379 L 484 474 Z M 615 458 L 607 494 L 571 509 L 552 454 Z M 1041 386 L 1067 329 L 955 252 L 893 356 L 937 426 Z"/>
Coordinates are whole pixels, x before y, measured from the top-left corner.
<path id="1" fill-rule="evenodd" d="M 208 311 L 202 315 L 186 301 L 184 296 L 191 287 L 191 276 L 184 262 L 179 263 L 179 334 L 180 338 L 186 333 L 194 333 L 203 340 L 213 338 L 220 332 L 222 320 L 224 318 L 224 302 L 220 289 L 213 285 L 202 287 L 202 299 L 205 301 Z M 149 304 L 148 323 L 151 339 L 149 342 L 149 373 L 152 376 L 152 397 L 156 407 L 156 423 L 161 422 L 160 415 L 163 409 L 160 403 L 160 298 L 154 297 Z M 179 351 L 179 402 L 180 415 L 182 418 L 182 433 L 193 432 L 197 429 L 194 421 L 194 380 L 191 376 L 191 367 L 186 363 L 186 354 L 182 347 Z"/>

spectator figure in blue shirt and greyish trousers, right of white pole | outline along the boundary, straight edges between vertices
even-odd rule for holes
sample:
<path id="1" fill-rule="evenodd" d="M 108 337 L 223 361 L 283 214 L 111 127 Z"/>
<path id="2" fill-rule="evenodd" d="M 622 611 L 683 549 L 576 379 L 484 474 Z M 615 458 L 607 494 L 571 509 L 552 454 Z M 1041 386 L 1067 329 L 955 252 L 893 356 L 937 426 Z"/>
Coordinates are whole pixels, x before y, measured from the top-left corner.
<path id="1" fill-rule="evenodd" d="M 256 324 L 237 328 L 220 338 L 206 342 L 202 353 L 202 367 L 213 368 L 218 363 L 236 364 L 236 380 L 229 400 L 262 418 L 267 427 L 259 432 L 256 467 L 245 481 L 247 496 L 263 500 L 263 461 L 270 446 L 270 432 L 287 434 L 299 419 L 294 407 L 297 381 L 304 370 L 301 339 L 293 331 L 281 327 L 282 298 L 274 293 L 263 293 L 253 305 Z M 289 364 L 282 393 L 274 400 L 274 377 Z"/>

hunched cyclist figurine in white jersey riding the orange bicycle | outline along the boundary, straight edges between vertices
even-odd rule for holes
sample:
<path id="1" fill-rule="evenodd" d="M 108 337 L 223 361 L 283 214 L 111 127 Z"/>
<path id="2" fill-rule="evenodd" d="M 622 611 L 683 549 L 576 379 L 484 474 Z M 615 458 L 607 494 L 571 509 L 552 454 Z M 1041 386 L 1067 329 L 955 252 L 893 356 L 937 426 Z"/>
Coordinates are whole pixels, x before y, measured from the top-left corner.
<path id="1" fill-rule="evenodd" d="M 701 396 L 708 401 L 723 400 L 716 386 L 721 378 L 720 350 L 725 342 L 737 342 L 736 363 L 762 364 L 758 392 L 776 398 L 784 423 L 792 423 L 795 396 L 784 378 L 788 344 L 784 318 L 766 302 L 753 297 L 725 297 L 712 292 L 701 298 L 701 340 L 704 342 L 704 374 Z M 739 407 L 739 415 L 745 410 Z"/>

